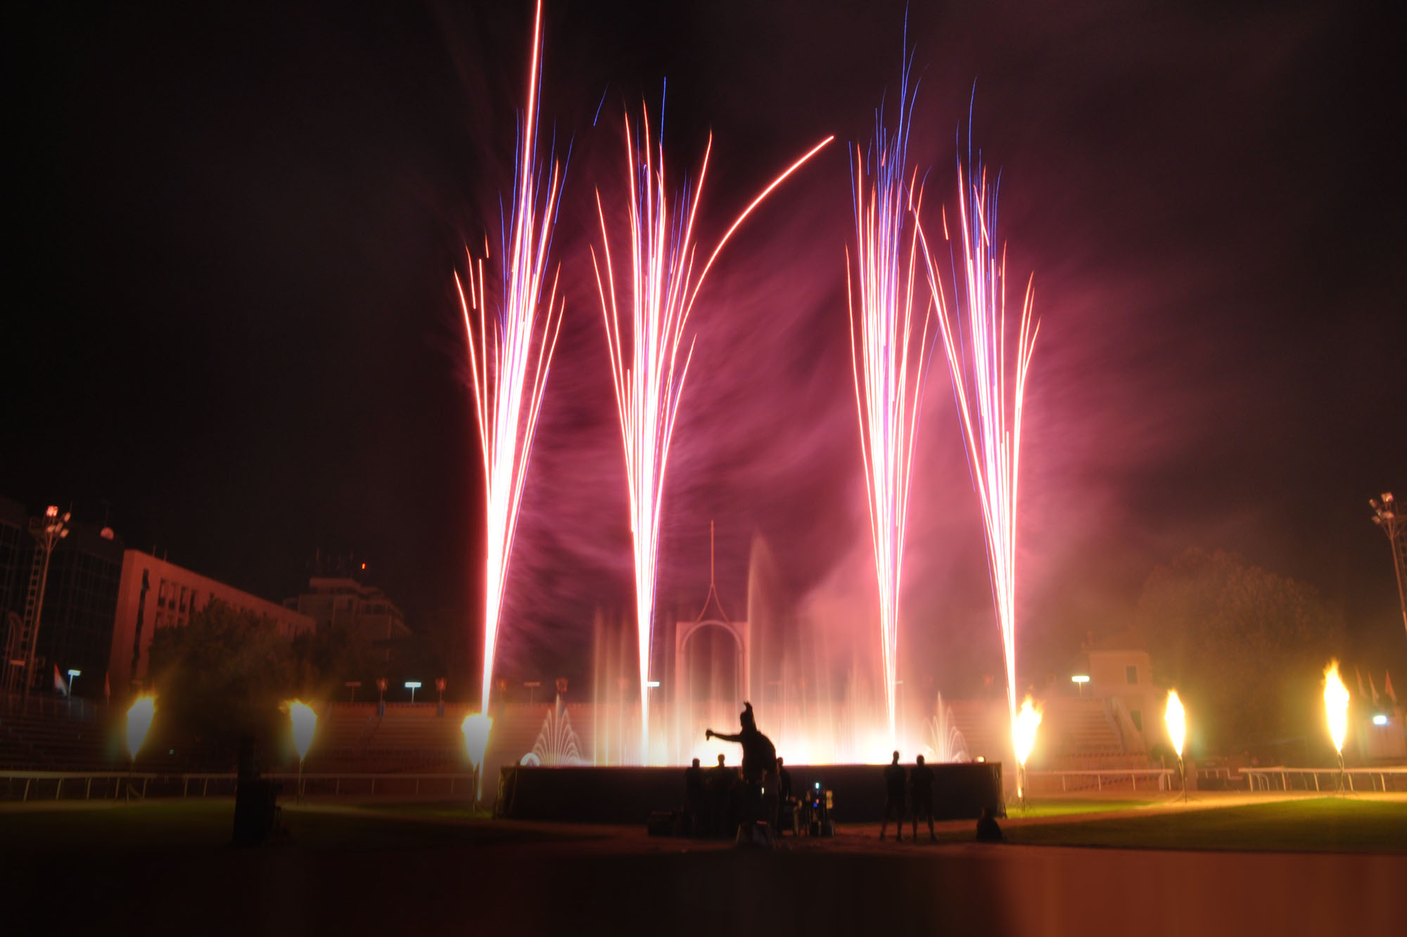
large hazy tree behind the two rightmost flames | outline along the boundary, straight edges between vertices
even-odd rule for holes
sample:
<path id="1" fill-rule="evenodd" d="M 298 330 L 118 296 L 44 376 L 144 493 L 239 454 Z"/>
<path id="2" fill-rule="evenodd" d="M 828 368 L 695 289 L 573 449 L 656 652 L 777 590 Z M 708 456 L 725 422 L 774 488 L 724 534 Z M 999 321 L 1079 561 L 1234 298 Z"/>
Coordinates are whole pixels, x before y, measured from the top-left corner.
<path id="1" fill-rule="evenodd" d="M 1342 620 L 1313 587 L 1192 547 L 1148 577 L 1138 622 L 1155 678 L 1200 713 L 1207 747 L 1318 746 L 1318 688 Z"/>

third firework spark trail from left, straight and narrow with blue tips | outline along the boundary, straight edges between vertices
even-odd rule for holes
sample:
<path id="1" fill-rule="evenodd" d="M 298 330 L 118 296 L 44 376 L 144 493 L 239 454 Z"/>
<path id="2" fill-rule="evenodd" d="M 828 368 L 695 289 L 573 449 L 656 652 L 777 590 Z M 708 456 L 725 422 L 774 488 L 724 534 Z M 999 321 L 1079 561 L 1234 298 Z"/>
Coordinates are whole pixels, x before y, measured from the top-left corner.
<path id="1" fill-rule="evenodd" d="M 893 132 L 884 125 L 881 107 L 875 115 L 875 139 L 868 159 L 861 156 L 858 146 L 851 155 L 855 211 L 853 277 L 848 248 L 846 250 L 850 350 L 879 582 L 879 637 L 891 741 L 895 737 L 899 587 L 909 518 L 909 478 L 929 346 L 927 308 L 922 312 L 922 332 L 917 335 L 913 310 L 917 225 L 906 225 L 910 214 L 917 217 L 917 200 L 922 198 L 922 193 L 915 191 L 916 173 L 905 179 L 913 110 L 909 68 L 906 60 L 899 84 L 899 121 Z"/>

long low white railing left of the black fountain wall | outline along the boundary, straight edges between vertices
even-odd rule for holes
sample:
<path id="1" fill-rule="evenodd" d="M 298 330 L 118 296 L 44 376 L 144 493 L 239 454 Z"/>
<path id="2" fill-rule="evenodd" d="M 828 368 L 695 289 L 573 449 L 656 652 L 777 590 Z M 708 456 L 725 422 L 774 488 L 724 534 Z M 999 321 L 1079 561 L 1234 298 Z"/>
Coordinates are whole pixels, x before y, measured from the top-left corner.
<path id="1" fill-rule="evenodd" d="M 24 782 L 24 788 L 20 793 L 20 801 L 28 801 L 31 798 L 31 791 L 34 799 L 52 799 L 59 801 L 63 798 L 65 785 L 73 792 L 76 785 L 83 785 L 83 799 L 93 799 L 93 782 L 98 782 L 98 796 L 117 799 L 122 796 L 124 789 L 129 796 L 148 795 L 149 786 L 155 784 L 159 796 L 177 796 L 176 788 L 180 786 L 180 795 L 183 798 L 189 796 L 229 796 L 235 792 L 235 781 L 239 775 L 234 771 L 224 772 L 186 772 L 186 774 L 167 774 L 162 771 L 0 771 L 0 781 L 4 781 L 4 795 L 0 799 L 13 799 L 10 793 L 13 786 L 18 786 Z M 290 781 L 298 784 L 300 775 L 297 771 L 272 771 L 259 775 L 262 779 L 270 781 Z M 48 785 L 53 784 L 52 796 L 48 796 Z M 459 791 L 474 791 L 474 774 L 371 774 L 371 772 L 356 772 L 356 771 L 325 771 L 325 772 L 307 772 L 301 775 L 303 793 L 332 793 L 333 796 L 340 796 L 343 792 L 348 795 L 355 793 L 376 793 L 377 784 L 381 785 L 381 792 L 387 793 L 388 788 L 394 792 L 405 793 L 409 789 L 411 793 L 419 795 L 422 785 L 428 788 L 426 792 L 443 792 L 449 796 L 456 793 L 456 785 Z M 138 788 L 138 784 L 141 785 Z M 214 788 L 214 791 L 211 789 Z M 77 799 L 76 793 L 70 793 L 69 799 Z"/>

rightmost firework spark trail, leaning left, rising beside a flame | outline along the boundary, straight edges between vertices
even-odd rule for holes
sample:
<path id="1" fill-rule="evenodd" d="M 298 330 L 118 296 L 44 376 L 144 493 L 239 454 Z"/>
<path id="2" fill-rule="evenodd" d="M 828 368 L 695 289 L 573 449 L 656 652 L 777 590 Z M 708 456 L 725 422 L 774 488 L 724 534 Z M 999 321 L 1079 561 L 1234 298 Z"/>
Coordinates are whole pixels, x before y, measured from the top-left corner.
<path id="1" fill-rule="evenodd" d="M 917 218 L 917 208 L 915 208 Z M 1040 324 L 1031 318 L 1034 276 L 1026 283 L 1016 359 L 1007 366 L 1006 248 L 996 246 L 996 189 L 976 165 L 976 179 L 958 163 L 958 217 L 961 257 L 953 260 L 954 277 L 962 272 L 962 290 L 954 286 L 955 318 L 944 308 L 943 287 L 929 241 L 919 225 L 929 287 L 938 308 L 938 335 L 953 376 L 953 394 L 967 440 L 968 464 L 986 532 L 992 597 L 1002 627 L 1006 657 L 1006 701 L 1013 739 L 1016 713 L 1016 502 L 1021 456 L 1021 405 L 1026 373 L 1036 349 Z M 943 234 L 948 236 L 947 215 Z M 967 329 L 964 332 L 962 325 Z M 1009 373 L 1010 371 L 1010 373 Z"/>

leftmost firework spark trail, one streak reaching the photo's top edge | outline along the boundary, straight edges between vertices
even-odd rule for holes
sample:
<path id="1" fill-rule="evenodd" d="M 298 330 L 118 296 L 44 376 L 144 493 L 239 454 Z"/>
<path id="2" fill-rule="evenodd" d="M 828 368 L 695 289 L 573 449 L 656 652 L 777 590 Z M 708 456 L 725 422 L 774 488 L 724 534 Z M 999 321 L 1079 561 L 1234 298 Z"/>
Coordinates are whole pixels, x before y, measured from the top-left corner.
<path id="1" fill-rule="evenodd" d="M 469 342 L 469 364 L 474 388 L 474 415 L 484 453 L 485 581 L 484 581 L 484 674 L 483 709 L 488 712 L 492 688 L 494 651 L 504 602 L 504 582 L 512 554 L 518 509 L 522 504 L 528 459 L 542 409 L 552 352 L 561 326 L 566 300 L 557 301 L 557 274 L 547 287 L 547 256 L 561 196 L 561 169 L 556 160 L 542 181 L 537 165 L 537 97 L 542 90 L 542 0 L 533 20 L 532 63 L 528 70 L 528 108 L 518 120 L 516 166 L 514 169 L 512 212 L 502 232 L 502 287 L 497 310 L 488 314 L 490 297 L 484 257 L 469 259 L 469 295 L 459 273 L 460 310 Z M 477 314 L 477 315 L 471 315 Z M 477 328 L 476 319 L 477 318 Z M 490 321 L 492 319 L 492 321 Z"/>

